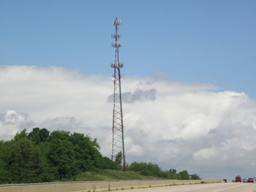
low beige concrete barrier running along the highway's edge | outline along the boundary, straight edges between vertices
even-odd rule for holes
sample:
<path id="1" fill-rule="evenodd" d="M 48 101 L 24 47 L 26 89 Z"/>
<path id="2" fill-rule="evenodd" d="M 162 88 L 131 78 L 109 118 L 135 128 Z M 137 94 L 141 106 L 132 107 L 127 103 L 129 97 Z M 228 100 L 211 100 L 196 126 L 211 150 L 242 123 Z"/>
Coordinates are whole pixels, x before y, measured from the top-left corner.
<path id="1" fill-rule="evenodd" d="M 0 192 L 97 192 L 222 182 L 222 180 L 119 180 L 81 183 L 36 183 L 30 185 L 0 185 Z"/>

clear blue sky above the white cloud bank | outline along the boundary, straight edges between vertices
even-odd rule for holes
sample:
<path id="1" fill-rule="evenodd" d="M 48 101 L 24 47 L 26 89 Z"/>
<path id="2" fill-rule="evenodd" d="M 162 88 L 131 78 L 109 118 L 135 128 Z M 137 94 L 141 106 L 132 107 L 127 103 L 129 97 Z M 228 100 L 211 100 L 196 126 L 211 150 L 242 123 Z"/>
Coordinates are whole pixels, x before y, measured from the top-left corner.
<path id="1" fill-rule="evenodd" d="M 125 76 L 170 74 L 256 98 L 256 1 L 0 1 L 0 64 L 111 74 L 112 22 Z"/>

